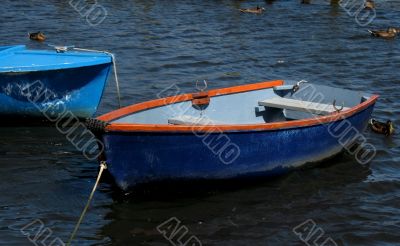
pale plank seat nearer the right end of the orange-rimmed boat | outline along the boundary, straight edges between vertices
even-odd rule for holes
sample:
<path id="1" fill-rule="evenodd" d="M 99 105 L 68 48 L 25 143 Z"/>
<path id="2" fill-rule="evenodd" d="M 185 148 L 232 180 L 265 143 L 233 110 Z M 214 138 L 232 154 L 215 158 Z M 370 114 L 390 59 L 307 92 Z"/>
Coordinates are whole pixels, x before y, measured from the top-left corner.
<path id="1" fill-rule="evenodd" d="M 312 114 L 324 115 L 336 112 L 335 107 L 329 104 L 308 102 L 290 98 L 283 97 L 273 97 L 263 101 L 258 102 L 261 106 L 280 108 L 280 109 L 290 109 L 294 111 L 308 112 Z M 341 108 L 339 106 L 338 108 Z M 343 110 L 348 110 L 349 108 L 343 107 Z"/>

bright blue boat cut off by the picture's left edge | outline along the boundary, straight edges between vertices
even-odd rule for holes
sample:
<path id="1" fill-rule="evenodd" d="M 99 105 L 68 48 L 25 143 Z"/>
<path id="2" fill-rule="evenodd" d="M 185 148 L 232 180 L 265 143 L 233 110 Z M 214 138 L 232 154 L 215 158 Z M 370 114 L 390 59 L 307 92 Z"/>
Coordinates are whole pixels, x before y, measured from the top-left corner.
<path id="1" fill-rule="evenodd" d="M 0 115 L 44 118 L 71 112 L 91 117 L 112 65 L 105 53 L 0 47 Z"/>

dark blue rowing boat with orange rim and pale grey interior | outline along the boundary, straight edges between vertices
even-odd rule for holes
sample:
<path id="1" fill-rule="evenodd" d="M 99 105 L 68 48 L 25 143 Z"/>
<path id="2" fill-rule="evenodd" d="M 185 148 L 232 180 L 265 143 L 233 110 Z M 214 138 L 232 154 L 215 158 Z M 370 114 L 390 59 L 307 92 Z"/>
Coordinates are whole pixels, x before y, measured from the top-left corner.
<path id="1" fill-rule="evenodd" d="M 354 143 L 363 139 L 377 98 L 269 81 L 159 98 L 88 125 L 99 138 L 100 160 L 122 189 L 164 180 L 270 177 L 344 149 L 364 162 L 368 153 Z"/>

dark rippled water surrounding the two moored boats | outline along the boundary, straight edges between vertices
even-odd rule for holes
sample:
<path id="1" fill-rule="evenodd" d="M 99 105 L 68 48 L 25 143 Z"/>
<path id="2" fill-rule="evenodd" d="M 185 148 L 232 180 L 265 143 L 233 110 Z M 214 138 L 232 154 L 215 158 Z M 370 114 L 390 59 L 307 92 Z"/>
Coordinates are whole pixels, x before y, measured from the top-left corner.
<path id="1" fill-rule="evenodd" d="M 299 2 L 98 0 L 108 16 L 92 27 L 68 1 L 2 0 L 0 44 L 44 48 L 27 40 L 40 30 L 48 43 L 112 51 L 124 105 L 172 83 L 194 91 L 197 79 L 212 88 L 306 79 L 378 93 L 374 117 L 400 125 L 400 40 L 371 38 L 328 0 Z M 370 27 L 400 26 L 400 1 L 376 2 Z M 237 11 L 256 4 L 263 15 Z M 99 113 L 116 107 L 110 78 Z M 124 195 L 105 179 L 74 245 L 171 245 L 156 230 L 171 217 L 203 245 L 306 245 L 292 229 L 308 219 L 338 245 L 399 245 L 399 135 L 365 136 L 378 150 L 368 165 L 344 154 L 257 184 Z M 55 129 L 0 128 L 0 244 L 33 245 L 20 229 L 36 219 L 66 242 L 97 171 Z"/>

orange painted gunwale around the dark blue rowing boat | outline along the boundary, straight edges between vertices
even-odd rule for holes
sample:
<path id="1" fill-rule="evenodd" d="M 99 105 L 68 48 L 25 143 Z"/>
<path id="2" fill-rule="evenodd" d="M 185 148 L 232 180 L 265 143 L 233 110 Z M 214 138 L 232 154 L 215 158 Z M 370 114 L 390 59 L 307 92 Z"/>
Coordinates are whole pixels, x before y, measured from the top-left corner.
<path id="1" fill-rule="evenodd" d="M 234 87 L 213 89 L 208 91 L 210 97 L 216 97 L 221 95 L 236 94 L 254 90 L 268 89 L 275 86 L 281 86 L 284 84 L 283 80 L 275 81 L 264 81 L 255 84 L 239 85 Z M 106 132 L 248 132 L 248 131 L 271 131 L 271 130 L 282 130 L 290 128 L 308 127 L 315 125 L 322 125 L 326 123 L 332 123 L 340 120 L 349 118 L 364 109 L 375 104 L 378 99 L 378 95 L 371 95 L 366 101 L 357 104 L 356 106 L 341 111 L 338 113 L 332 113 L 325 116 L 317 116 L 301 120 L 293 121 L 281 121 L 272 123 L 256 123 L 256 124 L 218 124 L 218 125 L 168 125 L 168 124 L 137 124 L 137 123 L 109 123 L 105 127 Z M 132 113 L 138 113 L 141 111 L 162 107 L 174 103 L 190 101 L 193 99 L 193 94 L 181 94 L 172 97 L 160 98 L 142 103 L 133 104 L 115 111 L 111 111 L 107 114 L 97 117 L 98 120 L 109 122 L 127 116 Z"/>

